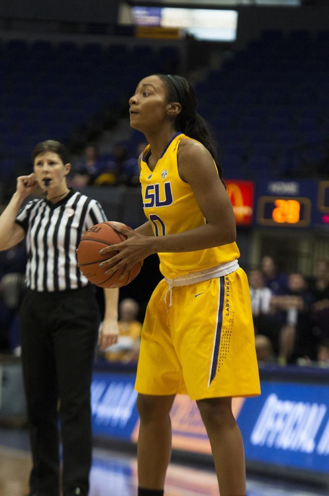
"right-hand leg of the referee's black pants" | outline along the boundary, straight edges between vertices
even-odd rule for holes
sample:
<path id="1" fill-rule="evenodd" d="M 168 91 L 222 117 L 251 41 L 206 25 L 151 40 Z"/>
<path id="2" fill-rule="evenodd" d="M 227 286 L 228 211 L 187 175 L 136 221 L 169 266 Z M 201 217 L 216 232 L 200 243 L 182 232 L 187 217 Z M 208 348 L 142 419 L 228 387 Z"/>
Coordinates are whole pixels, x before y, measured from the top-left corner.
<path id="1" fill-rule="evenodd" d="M 62 300 L 55 332 L 63 445 L 63 496 L 87 496 L 92 462 L 90 383 L 99 309 L 90 288 Z"/>

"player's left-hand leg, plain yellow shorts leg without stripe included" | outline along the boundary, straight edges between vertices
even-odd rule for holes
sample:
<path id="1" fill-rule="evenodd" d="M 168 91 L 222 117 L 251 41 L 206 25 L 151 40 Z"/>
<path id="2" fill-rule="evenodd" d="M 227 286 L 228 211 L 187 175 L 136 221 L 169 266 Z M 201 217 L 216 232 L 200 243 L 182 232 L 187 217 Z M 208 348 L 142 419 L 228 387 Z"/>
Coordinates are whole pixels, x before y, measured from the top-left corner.
<path id="1" fill-rule="evenodd" d="M 135 387 L 139 392 L 139 496 L 161 496 L 171 453 L 169 412 L 182 390 L 182 370 L 172 343 L 168 286 L 161 281 L 149 301 L 142 330 Z M 166 298 L 167 297 L 167 298 Z M 166 304 L 167 300 L 167 304 Z M 184 389 L 186 392 L 186 389 Z"/>

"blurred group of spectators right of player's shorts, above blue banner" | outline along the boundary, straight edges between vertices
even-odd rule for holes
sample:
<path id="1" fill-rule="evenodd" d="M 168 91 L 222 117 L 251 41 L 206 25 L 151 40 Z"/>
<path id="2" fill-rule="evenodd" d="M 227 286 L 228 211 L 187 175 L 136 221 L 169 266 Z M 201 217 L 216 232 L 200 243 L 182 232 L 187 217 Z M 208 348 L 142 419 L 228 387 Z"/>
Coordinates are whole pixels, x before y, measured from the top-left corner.
<path id="1" fill-rule="evenodd" d="M 264 256 L 249 285 L 258 360 L 329 367 L 329 261 L 318 260 L 307 279 Z"/>

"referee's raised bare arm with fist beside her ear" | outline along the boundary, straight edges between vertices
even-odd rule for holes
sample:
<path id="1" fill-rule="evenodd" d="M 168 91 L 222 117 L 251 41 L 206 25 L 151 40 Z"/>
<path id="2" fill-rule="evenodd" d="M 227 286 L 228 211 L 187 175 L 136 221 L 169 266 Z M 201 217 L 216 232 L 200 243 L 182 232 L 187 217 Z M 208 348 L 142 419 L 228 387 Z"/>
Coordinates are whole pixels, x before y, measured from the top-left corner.
<path id="1" fill-rule="evenodd" d="M 24 199 L 38 186 L 34 174 L 17 178 L 16 191 L 0 215 L 0 251 L 9 249 L 25 238 L 24 229 L 15 219 Z"/>

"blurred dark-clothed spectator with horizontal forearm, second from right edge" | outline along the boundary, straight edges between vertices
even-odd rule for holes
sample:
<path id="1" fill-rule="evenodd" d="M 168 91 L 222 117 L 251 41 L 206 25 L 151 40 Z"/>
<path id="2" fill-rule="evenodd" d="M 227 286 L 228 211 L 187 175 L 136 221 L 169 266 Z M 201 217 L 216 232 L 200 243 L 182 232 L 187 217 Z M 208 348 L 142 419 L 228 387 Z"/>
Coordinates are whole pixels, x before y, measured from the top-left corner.
<path id="1" fill-rule="evenodd" d="M 313 301 L 303 275 L 298 273 L 289 275 L 288 290 L 284 295 L 272 298 L 271 307 L 282 322 L 279 332 L 280 365 L 294 363 L 302 356 L 314 359 L 315 343 L 309 316 Z"/>

